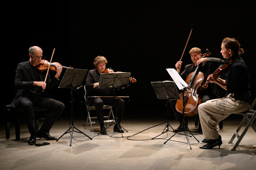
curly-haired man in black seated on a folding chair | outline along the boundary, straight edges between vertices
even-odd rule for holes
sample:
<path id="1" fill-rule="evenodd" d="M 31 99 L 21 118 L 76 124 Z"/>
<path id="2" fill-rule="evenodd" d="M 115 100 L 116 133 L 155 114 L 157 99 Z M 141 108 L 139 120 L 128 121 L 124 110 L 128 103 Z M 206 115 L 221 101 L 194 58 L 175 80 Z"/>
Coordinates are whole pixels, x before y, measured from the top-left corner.
<path id="1" fill-rule="evenodd" d="M 107 59 L 103 56 L 97 56 L 94 59 L 94 66 L 96 67 L 93 70 L 89 70 L 86 77 L 85 88 L 86 88 L 86 97 L 88 96 L 112 96 L 111 91 L 108 88 L 98 88 L 100 73 L 103 73 L 106 69 L 106 64 L 108 63 Z M 109 70 L 109 73 L 112 73 L 113 70 Z M 124 100 L 120 98 L 113 97 L 92 97 L 89 100 L 86 100 L 86 105 L 95 106 L 95 112 L 97 119 L 100 123 L 100 134 L 106 135 L 107 131 L 104 127 L 103 119 L 103 105 L 113 106 L 114 115 L 117 115 L 117 123 L 114 126 L 114 131 L 123 133 L 124 130 L 121 129 L 120 122 L 122 121 L 123 112 L 124 112 Z"/>

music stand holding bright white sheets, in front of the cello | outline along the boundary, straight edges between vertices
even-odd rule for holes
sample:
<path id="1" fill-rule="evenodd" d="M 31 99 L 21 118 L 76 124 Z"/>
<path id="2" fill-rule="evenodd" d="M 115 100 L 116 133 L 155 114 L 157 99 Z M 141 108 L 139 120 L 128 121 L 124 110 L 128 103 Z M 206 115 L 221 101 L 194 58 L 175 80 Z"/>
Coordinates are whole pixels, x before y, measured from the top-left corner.
<path id="1" fill-rule="evenodd" d="M 172 77 L 173 81 L 175 82 L 175 84 L 178 86 L 178 88 L 182 91 L 182 100 L 183 100 L 183 108 L 182 108 L 182 124 L 181 124 L 181 127 L 183 127 L 183 130 L 184 130 L 184 133 L 185 133 L 185 136 L 186 136 L 186 139 L 188 141 L 188 144 L 190 146 L 190 143 L 189 143 L 189 140 L 188 140 L 188 134 L 187 134 L 187 131 L 196 139 L 196 137 L 188 130 L 188 126 L 186 124 L 186 121 L 185 121 L 185 111 L 184 111 L 184 108 L 185 108 L 185 102 L 186 102 L 186 95 L 185 95 L 185 91 L 189 91 L 189 89 L 187 89 L 188 87 L 188 84 L 180 77 L 179 73 L 175 70 L 175 69 L 166 69 L 167 72 L 170 74 L 170 76 Z M 176 134 L 177 132 L 175 132 Z M 174 135 L 175 135 L 174 134 Z M 174 136 L 172 135 L 172 137 Z M 172 137 L 170 137 L 167 141 L 164 142 L 164 144 L 166 142 L 168 142 Z M 191 136 L 189 136 L 191 137 Z M 197 139 L 196 139 L 197 140 Z M 199 142 L 197 140 L 197 142 Z M 191 149 L 191 146 L 190 146 L 190 149 Z"/>

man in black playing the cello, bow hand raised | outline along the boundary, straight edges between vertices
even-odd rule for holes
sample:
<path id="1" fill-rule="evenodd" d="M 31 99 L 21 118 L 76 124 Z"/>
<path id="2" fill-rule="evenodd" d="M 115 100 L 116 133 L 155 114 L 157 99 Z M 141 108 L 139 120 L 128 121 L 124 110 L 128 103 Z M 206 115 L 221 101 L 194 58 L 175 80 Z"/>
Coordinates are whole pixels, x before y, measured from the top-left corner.
<path id="1" fill-rule="evenodd" d="M 188 75 L 191 72 L 196 70 L 196 66 L 198 66 L 198 65 L 199 65 L 199 71 L 203 72 L 204 75 L 207 76 L 207 75 L 211 74 L 211 70 L 212 70 L 211 68 L 216 69 L 222 63 L 222 61 L 219 58 L 212 58 L 212 57 L 211 58 L 209 58 L 209 57 L 201 58 L 202 57 L 201 49 L 197 48 L 197 47 L 191 48 L 189 51 L 189 54 L 191 57 L 191 61 L 193 63 L 186 65 L 185 70 L 182 73 L 180 73 L 182 61 L 178 61 L 175 64 L 175 68 L 177 69 L 177 72 L 180 74 L 180 77 L 184 81 L 186 81 L 186 78 L 188 77 Z M 208 61 L 208 62 L 206 62 L 206 61 Z M 209 62 L 211 62 L 211 64 Z M 219 94 L 219 91 L 218 91 L 216 85 L 212 84 L 207 89 L 202 91 L 201 103 L 204 103 L 205 101 L 210 100 L 210 99 L 214 99 L 216 96 L 218 97 L 218 96 L 220 96 L 220 94 Z M 172 107 L 172 111 L 175 114 L 176 119 L 178 121 L 180 121 L 180 126 L 177 129 L 175 129 L 174 132 L 180 132 L 180 131 L 183 131 L 184 128 L 181 126 L 182 125 L 182 114 L 180 114 L 180 112 L 178 112 L 175 107 L 176 101 L 177 100 L 170 100 L 170 105 Z M 186 123 L 187 123 L 188 122 L 187 116 L 185 116 L 185 119 L 186 119 Z M 203 133 L 200 124 L 198 127 L 198 131 L 200 134 Z"/>

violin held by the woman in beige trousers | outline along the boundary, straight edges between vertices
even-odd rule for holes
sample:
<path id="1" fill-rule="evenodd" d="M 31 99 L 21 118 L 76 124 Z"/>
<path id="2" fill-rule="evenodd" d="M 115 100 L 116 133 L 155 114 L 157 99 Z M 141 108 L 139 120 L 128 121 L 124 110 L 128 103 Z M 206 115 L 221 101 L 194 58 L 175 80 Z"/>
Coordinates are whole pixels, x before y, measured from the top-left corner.
<path id="1" fill-rule="evenodd" d="M 233 58 L 230 57 L 227 60 L 225 60 L 225 63 L 220 65 L 218 69 L 216 69 L 213 73 L 212 73 L 212 77 L 217 79 L 219 78 L 221 75 L 225 74 L 228 72 L 228 70 L 230 70 L 231 66 L 234 64 Z M 203 85 L 204 88 L 208 87 L 208 83 L 209 80 L 211 78 L 207 78 L 205 84 Z"/>

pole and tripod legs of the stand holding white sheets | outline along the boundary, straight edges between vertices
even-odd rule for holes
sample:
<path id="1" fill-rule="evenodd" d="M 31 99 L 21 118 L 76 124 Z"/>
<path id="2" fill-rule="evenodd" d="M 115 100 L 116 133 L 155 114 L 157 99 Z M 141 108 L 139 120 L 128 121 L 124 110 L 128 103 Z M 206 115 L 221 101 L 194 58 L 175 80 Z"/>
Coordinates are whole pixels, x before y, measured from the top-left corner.
<path id="1" fill-rule="evenodd" d="M 182 89 L 182 99 L 183 99 L 183 108 L 182 108 L 182 124 L 181 124 L 181 127 L 183 128 L 183 131 L 184 131 L 184 134 L 185 134 L 185 136 L 186 136 L 186 139 L 187 139 L 187 144 L 189 144 L 189 147 L 190 147 L 190 150 L 191 150 L 191 145 L 190 145 L 190 143 L 189 143 L 189 139 L 188 139 L 188 137 L 191 137 L 191 136 L 188 136 L 188 133 L 187 132 L 189 132 L 195 139 L 196 139 L 196 137 L 189 131 L 189 129 L 188 129 L 188 126 L 187 126 L 187 123 L 186 123 L 186 120 L 185 120 L 185 113 L 184 113 L 184 106 L 185 106 L 185 98 L 186 98 L 186 96 L 184 95 L 184 93 L 185 93 L 185 90 L 184 89 Z M 174 135 L 176 135 L 178 132 L 175 132 L 175 134 Z M 178 133 L 178 134 L 181 134 L 180 132 Z M 167 141 L 165 141 L 164 142 L 164 144 L 166 144 L 166 142 L 168 142 L 174 135 L 172 135 Z M 196 139 L 197 140 L 197 139 Z M 199 140 L 197 140 L 197 142 L 199 143 Z"/>

